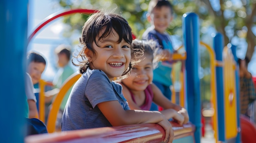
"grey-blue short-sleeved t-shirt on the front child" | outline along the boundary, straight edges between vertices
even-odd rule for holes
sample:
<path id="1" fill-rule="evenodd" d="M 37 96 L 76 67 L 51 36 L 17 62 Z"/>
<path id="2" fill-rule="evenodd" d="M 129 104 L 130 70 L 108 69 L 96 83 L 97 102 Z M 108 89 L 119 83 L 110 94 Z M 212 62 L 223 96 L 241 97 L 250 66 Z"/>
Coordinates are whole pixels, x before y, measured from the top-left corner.
<path id="1" fill-rule="evenodd" d="M 130 110 L 122 86 L 110 81 L 103 71 L 88 68 L 72 88 L 62 117 L 62 130 L 112 126 L 97 104 L 114 100 L 119 101 L 124 110 Z"/>

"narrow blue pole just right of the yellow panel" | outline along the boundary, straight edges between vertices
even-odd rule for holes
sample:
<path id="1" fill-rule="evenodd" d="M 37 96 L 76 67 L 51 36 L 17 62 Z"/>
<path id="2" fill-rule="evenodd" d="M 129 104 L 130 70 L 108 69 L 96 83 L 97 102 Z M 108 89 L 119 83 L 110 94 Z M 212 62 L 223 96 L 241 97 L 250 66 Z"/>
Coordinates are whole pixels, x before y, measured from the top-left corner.
<path id="1" fill-rule="evenodd" d="M 239 65 L 238 65 L 238 58 L 236 57 L 236 46 L 232 45 L 231 46 L 231 51 L 232 54 L 234 55 L 234 60 L 236 61 L 236 72 L 235 72 L 235 79 L 236 79 L 236 118 L 237 118 L 237 127 L 240 129 L 240 77 L 239 77 Z M 236 143 L 241 143 L 241 136 L 240 132 L 238 132 L 237 137 L 236 137 Z"/>

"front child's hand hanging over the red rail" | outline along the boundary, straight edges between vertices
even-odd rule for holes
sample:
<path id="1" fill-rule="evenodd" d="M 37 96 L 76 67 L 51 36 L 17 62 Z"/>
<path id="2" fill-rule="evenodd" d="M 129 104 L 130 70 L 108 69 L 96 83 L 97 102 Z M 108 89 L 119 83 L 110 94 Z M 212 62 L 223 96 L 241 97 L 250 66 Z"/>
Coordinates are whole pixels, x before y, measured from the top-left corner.
<path id="1" fill-rule="evenodd" d="M 162 121 L 158 122 L 157 124 L 161 125 L 165 130 L 164 142 L 172 143 L 174 133 L 173 133 L 173 127 L 172 127 L 171 123 L 166 118 L 164 118 Z"/>

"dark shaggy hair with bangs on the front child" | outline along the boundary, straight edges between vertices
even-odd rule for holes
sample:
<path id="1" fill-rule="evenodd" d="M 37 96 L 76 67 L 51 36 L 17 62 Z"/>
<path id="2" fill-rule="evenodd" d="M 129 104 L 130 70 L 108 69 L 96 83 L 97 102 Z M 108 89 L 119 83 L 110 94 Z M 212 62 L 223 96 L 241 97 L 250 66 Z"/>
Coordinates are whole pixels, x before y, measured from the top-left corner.
<path id="1" fill-rule="evenodd" d="M 72 63 L 75 66 L 79 66 L 80 73 L 84 73 L 89 67 L 89 61 L 86 58 L 85 50 L 90 50 L 93 53 L 93 56 L 95 56 L 96 53 L 92 47 L 93 42 L 99 46 L 98 41 L 103 40 L 113 33 L 113 30 L 115 30 L 119 36 L 118 42 L 121 42 L 124 39 L 128 44 L 132 43 L 132 29 L 128 25 L 128 22 L 120 15 L 103 13 L 101 11 L 90 15 L 83 26 L 82 37 L 80 38 L 79 47 L 82 49 L 78 54 L 74 53 L 72 58 Z M 102 35 L 100 33 L 102 33 Z M 97 37 L 99 38 L 98 41 Z M 74 58 L 77 60 L 78 64 L 75 64 Z M 131 59 L 135 59 L 135 52 L 132 48 Z M 133 62 L 134 61 L 130 62 L 128 69 L 122 76 L 130 74 Z"/>

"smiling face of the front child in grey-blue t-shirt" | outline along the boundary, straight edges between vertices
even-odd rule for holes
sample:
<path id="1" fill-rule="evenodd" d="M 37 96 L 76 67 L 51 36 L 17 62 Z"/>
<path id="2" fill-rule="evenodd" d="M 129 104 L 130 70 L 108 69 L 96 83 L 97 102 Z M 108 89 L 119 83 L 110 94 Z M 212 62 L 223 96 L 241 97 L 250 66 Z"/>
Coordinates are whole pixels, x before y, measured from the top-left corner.
<path id="1" fill-rule="evenodd" d="M 97 40 L 100 47 L 93 42 L 92 47 L 96 51 L 96 55 L 91 60 L 88 58 L 90 68 L 102 70 L 110 80 L 120 77 L 128 68 L 131 60 L 130 44 L 124 40 L 118 43 L 118 40 L 118 34 L 113 29 L 113 33 L 110 33 L 108 37 Z M 90 53 L 86 55 L 90 57 Z"/>

